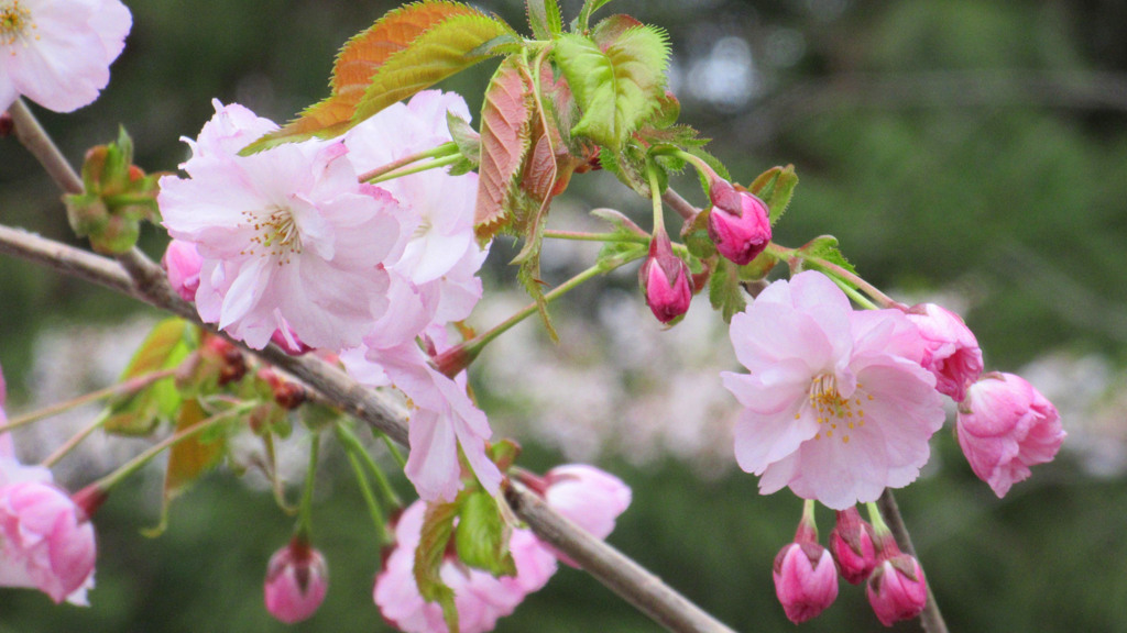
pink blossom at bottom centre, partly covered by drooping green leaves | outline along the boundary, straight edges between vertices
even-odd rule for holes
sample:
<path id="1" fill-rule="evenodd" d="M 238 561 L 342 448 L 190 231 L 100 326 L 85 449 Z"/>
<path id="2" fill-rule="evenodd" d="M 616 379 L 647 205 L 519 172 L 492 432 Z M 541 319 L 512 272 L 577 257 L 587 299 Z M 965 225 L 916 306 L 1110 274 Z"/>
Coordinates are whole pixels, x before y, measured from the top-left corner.
<path id="1" fill-rule="evenodd" d="M 442 607 L 424 600 L 415 581 L 415 550 L 425 511 L 426 506 L 416 501 L 399 517 L 396 547 L 375 579 L 372 597 L 383 617 L 400 631 L 446 633 Z M 498 618 L 513 613 L 526 595 L 542 588 L 556 572 L 556 560 L 527 529 L 513 531 L 509 551 L 516 564 L 513 577 L 494 578 L 453 559 L 442 563 L 440 574 L 454 591 L 461 633 L 492 631 Z"/>

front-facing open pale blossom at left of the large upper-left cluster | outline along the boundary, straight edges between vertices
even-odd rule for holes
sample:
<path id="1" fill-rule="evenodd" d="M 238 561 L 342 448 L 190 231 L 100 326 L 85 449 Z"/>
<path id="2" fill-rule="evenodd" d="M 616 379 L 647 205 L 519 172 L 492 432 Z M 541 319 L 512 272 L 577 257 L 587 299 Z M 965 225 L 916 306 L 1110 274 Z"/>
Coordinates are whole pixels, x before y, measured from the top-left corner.
<path id="1" fill-rule="evenodd" d="M 274 125 L 216 108 L 181 166 L 189 178 L 161 178 L 158 198 L 169 234 L 203 258 L 201 318 L 257 349 L 286 326 L 314 348 L 358 345 L 389 304 L 398 204 L 357 184 L 341 143 L 236 155 Z"/>

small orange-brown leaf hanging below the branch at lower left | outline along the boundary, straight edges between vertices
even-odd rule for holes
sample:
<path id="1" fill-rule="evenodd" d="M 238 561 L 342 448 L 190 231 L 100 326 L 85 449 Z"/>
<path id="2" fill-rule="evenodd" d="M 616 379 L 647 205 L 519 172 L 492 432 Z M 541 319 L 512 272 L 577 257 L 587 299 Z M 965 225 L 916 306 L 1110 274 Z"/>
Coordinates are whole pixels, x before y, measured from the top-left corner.
<path id="1" fill-rule="evenodd" d="M 185 400 L 176 421 L 177 433 L 189 429 L 207 419 L 199 401 Z M 165 494 L 160 508 L 160 523 L 142 531 L 150 538 L 160 536 L 168 527 L 168 509 L 172 500 L 188 489 L 201 475 L 215 467 L 225 449 L 225 435 L 193 435 L 177 442 L 168 452 L 168 469 L 165 471 Z"/>

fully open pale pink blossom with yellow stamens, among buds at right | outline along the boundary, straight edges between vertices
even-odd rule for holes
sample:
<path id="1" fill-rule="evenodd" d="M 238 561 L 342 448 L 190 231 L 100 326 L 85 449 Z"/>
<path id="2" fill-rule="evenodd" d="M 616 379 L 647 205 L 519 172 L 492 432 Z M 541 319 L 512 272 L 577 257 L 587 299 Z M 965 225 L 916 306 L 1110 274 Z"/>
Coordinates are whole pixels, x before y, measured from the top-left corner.
<path id="1" fill-rule="evenodd" d="M 721 374 L 743 405 L 736 460 L 766 494 L 790 487 L 834 509 L 911 483 L 943 424 L 916 327 L 897 310 L 854 312 L 825 275 L 771 284 L 731 320 L 749 374 Z"/>

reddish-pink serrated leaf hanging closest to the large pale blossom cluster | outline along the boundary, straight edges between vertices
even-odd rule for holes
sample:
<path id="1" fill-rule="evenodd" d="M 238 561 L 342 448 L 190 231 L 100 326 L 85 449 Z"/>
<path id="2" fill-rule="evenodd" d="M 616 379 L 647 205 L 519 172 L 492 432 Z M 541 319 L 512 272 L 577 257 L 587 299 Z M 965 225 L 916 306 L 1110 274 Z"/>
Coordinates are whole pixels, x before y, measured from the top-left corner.
<path id="1" fill-rule="evenodd" d="M 532 86 L 524 62 L 500 63 L 481 106 L 481 164 L 473 229 L 486 241 L 512 223 L 511 200 L 524 157 L 532 146 Z"/>

